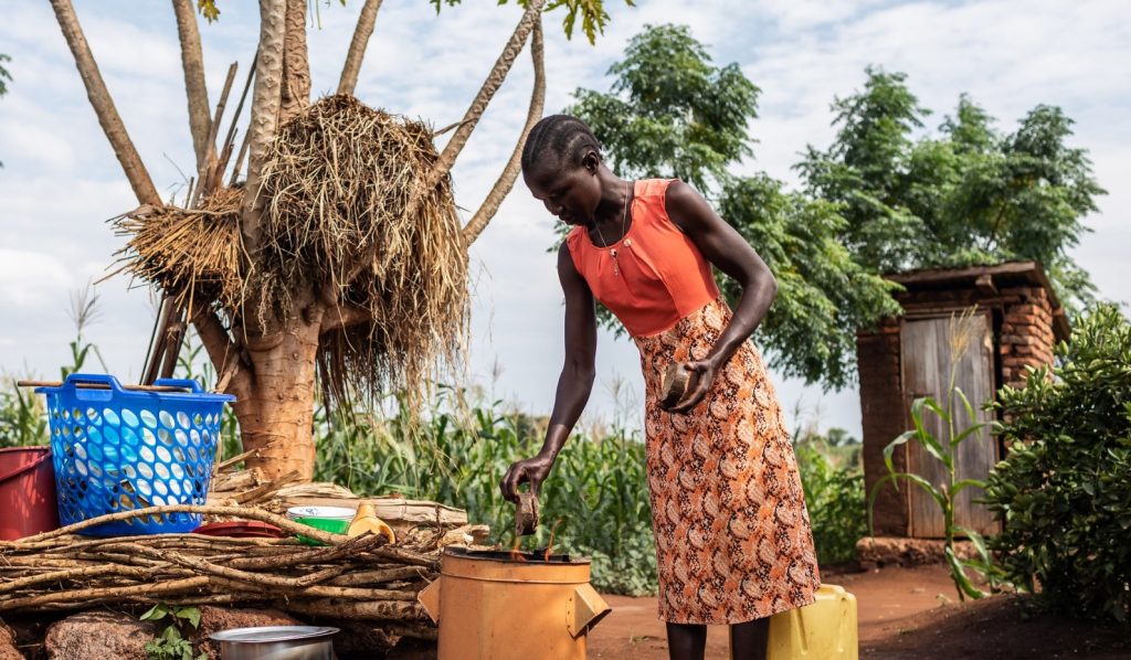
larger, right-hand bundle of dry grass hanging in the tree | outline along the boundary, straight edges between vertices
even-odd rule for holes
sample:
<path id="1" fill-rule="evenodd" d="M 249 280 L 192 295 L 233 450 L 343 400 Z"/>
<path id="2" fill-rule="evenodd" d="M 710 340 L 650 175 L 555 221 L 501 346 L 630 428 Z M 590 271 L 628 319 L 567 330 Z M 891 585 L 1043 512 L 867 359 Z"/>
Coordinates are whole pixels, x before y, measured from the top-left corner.
<path id="1" fill-rule="evenodd" d="M 467 250 L 448 177 L 425 190 L 438 155 L 429 127 L 353 96 L 322 98 L 279 128 L 264 164 L 261 268 L 275 304 L 304 281 L 369 322 L 323 335 L 322 383 L 409 391 L 437 358 L 458 362 L 467 325 Z M 415 212 L 406 215 L 411 200 Z M 373 249 L 378 248 L 375 252 Z M 366 254 L 361 275 L 348 275 Z"/>

